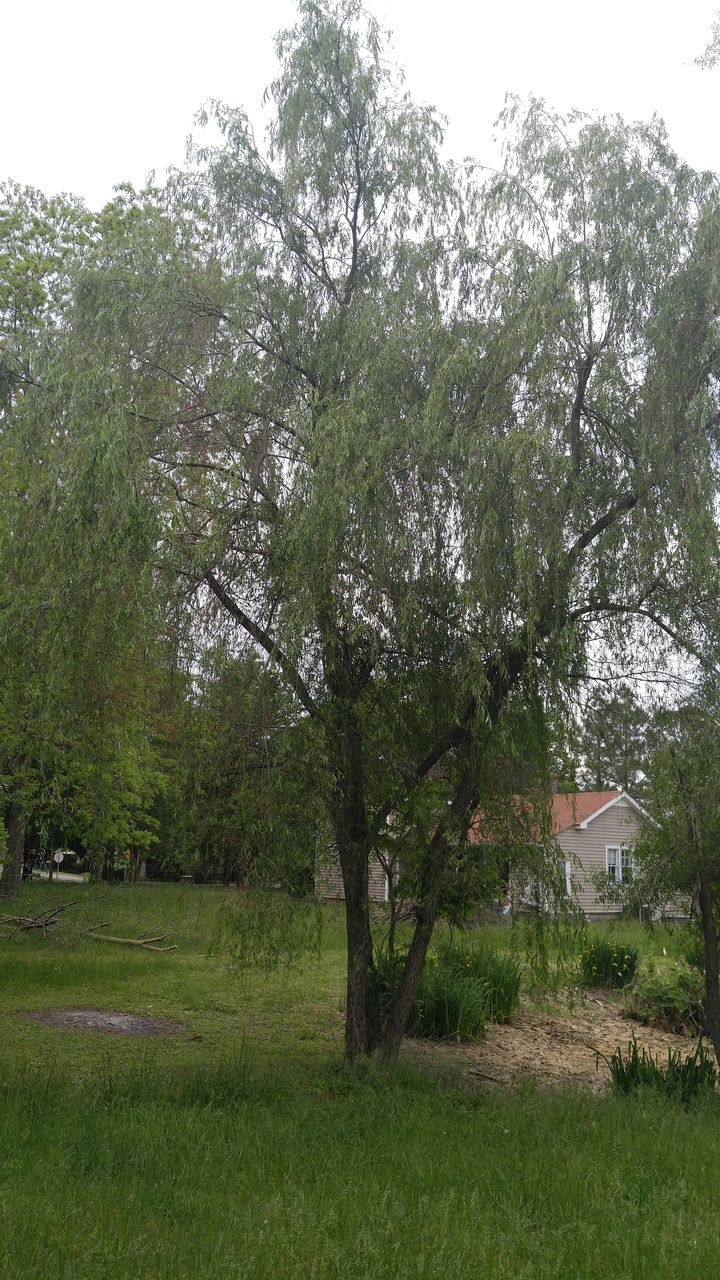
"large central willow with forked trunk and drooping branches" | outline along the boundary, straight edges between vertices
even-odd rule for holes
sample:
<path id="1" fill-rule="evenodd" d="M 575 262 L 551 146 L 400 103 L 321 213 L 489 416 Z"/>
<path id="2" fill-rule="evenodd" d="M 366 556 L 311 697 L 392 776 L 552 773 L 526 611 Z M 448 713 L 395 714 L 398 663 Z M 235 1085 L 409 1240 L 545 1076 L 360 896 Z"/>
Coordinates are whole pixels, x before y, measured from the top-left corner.
<path id="1" fill-rule="evenodd" d="M 601 631 L 683 641 L 710 600 L 714 187 L 659 125 L 538 102 L 502 173 L 443 165 L 352 0 L 277 49 L 266 150 L 215 104 L 218 146 L 106 211 L 63 358 L 159 513 L 158 590 L 314 722 L 350 1057 L 380 1037 L 369 860 L 414 832 L 395 1057 L 491 759 Z"/>

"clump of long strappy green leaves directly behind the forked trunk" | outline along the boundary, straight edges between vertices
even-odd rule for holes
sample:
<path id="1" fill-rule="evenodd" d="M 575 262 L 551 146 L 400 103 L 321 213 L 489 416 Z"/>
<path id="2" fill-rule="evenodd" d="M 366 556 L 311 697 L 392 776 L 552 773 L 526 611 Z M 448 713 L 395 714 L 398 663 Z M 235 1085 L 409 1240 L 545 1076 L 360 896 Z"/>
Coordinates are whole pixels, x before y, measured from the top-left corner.
<path id="1" fill-rule="evenodd" d="M 384 1019 L 405 954 L 378 956 L 380 1016 Z M 477 945 L 441 943 L 428 955 L 407 1030 L 428 1039 L 479 1039 L 486 1021 L 510 1021 L 520 997 L 520 968 L 512 956 Z"/>

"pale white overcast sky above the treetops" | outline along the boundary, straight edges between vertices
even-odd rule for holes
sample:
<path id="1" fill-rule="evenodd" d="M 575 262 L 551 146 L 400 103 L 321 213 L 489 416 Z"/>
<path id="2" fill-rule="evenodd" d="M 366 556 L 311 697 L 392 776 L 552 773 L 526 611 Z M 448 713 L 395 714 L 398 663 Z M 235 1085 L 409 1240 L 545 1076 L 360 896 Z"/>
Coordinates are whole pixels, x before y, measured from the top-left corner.
<path id="1" fill-rule="evenodd" d="M 507 91 L 556 108 L 661 115 L 680 155 L 720 172 L 720 68 L 701 72 L 720 0 L 374 0 L 413 95 L 448 118 L 447 151 L 492 163 Z M 0 178 L 92 206 L 182 163 L 208 97 L 260 118 L 291 0 L 28 0 L 5 6 Z"/>

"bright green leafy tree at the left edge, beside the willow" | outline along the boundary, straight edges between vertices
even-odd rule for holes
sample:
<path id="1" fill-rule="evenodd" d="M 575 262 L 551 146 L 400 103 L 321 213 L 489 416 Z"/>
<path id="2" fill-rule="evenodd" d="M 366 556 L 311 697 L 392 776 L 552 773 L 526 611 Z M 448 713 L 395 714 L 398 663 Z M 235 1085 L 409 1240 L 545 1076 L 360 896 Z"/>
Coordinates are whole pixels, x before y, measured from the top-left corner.
<path id="1" fill-rule="evenodd" d="M 150 526 L 135 520 L 118 454 L 109 470 L 101 438 L 79 451 L 77 420 L 68 434 L 72 393 L 55 364 L 95 227 L 78 201 L 0 188 L 3 896 L 17 892 L 28 824 L 100 859 L 108 844 L 149 838 L 161 785 L 147 735 L 154 620 L 138 608 L 137 526 Z"/>

